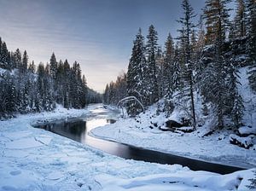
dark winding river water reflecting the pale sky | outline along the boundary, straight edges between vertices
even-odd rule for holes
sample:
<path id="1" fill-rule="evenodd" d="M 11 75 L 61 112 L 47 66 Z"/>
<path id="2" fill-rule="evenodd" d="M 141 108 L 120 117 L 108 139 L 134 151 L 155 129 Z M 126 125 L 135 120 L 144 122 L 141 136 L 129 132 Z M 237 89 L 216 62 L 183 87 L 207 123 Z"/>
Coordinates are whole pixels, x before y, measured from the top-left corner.
<path id="1" fill-rule="evenodd" d="M 49 130 L 55 134 L 66 136 L 74 141 L 98 148 L 106 153 L 119 156 L 124 159 L 136 159 L 160 164 L 179 164 L 188 166 L 194 171 L 212 171 L 227 174 L 243 170 L 236 166 L 218 165 L 197 159 L 189 159 L 168 153 L 160 153 L 153 150 L 133 147 L 119 142 L 105 141 L 88 135 L 93 128 L 109 123 L 114 123 L 119 111 L 105 108 L 102 104 L 90 105 L 90 113 L 84 114 L 79 119 L 58 120 L 49 124 L 38 124 L 37 128 Z"/>

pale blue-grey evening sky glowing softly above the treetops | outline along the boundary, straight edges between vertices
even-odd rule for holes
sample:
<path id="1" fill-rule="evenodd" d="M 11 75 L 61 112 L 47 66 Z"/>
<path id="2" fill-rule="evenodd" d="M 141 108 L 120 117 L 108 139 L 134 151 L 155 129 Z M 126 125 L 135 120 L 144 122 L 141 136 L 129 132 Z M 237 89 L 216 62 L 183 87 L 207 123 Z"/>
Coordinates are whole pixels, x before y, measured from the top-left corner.
<path id="1" fill-rule="evenodd" d="M 205 0 L 190 0 L 201 14 Z M 127 70 L 141 27 L 153 24 L 164 45 L 177 37 L 182 0 L 0 0 L 0 37 L 9 50 L 26 49 L 30 61 L 78 61 L 90 88 L 102 92 Z"/>

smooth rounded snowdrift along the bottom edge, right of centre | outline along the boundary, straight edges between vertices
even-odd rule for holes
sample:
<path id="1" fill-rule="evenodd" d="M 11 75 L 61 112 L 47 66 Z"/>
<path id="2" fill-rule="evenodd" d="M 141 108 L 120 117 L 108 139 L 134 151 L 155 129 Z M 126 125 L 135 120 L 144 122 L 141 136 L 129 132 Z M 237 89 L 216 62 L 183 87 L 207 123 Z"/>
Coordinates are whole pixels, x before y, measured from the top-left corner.
<path id="1" fill-rule="evenodd" d="M 103 182 L 104 191 L 170 190 L 171 188 L 172 190 L 235 190 L 241 184 L 241 178 L 245 176 L 247 174 L 244 171 L 224 176 L 205 171 L 176 171 L 172 174 L 149 175 L 129 180 L 100 175 L 96 177 L 96 181 Z"/>

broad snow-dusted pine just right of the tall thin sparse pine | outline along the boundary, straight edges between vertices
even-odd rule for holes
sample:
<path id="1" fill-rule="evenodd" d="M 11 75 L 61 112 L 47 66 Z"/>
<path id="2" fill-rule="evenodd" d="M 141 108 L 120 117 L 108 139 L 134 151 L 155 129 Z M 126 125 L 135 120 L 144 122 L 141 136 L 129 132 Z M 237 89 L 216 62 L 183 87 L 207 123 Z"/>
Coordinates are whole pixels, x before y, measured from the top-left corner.
<path id="1" fill-rule="evenodd" d="M 201 65 L 203 72 L 201 73 L 201 93 L 205 101 L 210 101 L 214 113 L 218 117 L 217 126 L 224 126 L 224 114 L 230 111 L 233 105 L 232 101 L 227 101 L 230 97 L 227 90 L 230 81 L 228 74 L 231 68 L 229 55 L 226 49 L 225 38 L 229 21 L 229 9 L 227 3 L 230 0 L 207 0 L 204 10 L 204 18 L 206 19 L 207 47 L 203 50 Z"/>

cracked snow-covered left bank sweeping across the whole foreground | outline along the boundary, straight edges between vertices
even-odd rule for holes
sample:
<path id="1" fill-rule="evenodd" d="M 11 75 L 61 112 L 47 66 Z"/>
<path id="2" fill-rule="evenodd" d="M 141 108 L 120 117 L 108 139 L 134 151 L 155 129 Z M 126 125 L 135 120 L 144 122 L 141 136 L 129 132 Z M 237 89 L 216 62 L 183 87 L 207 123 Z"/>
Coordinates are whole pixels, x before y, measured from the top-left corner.
<path id="1" fill-rule="evenodd" d="M 0 121 L 0 190 L 249 190 L 253 170 L 223 176 L 120 159 L 31 125 L 85 113 L 59 107 Z"/>

